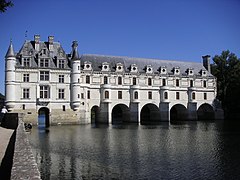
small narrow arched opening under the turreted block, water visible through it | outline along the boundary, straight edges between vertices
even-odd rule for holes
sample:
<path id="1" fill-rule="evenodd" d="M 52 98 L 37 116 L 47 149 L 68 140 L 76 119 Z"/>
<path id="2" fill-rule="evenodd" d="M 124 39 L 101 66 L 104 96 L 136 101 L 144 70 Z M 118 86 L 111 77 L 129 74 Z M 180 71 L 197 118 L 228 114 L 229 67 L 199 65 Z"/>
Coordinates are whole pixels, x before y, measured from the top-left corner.
<path id="1" fill-rule="evenodd" d="M 38 110 L 38 126 L 39 127 L 49 127 L 50 126 L 50 111 L 47 107 L 41 107 Z"/>

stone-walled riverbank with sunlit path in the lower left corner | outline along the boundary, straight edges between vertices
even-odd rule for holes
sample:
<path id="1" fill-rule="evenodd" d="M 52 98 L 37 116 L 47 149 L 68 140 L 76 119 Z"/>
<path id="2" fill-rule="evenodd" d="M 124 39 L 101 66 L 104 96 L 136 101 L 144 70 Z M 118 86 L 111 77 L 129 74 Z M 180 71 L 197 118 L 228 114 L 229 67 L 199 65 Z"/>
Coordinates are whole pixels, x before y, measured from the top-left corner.
<path id="1" fill-rule="evenodd" d="M 1 126 L 1 179 L 41 179 L 21 117 L 8 113 Z"/>

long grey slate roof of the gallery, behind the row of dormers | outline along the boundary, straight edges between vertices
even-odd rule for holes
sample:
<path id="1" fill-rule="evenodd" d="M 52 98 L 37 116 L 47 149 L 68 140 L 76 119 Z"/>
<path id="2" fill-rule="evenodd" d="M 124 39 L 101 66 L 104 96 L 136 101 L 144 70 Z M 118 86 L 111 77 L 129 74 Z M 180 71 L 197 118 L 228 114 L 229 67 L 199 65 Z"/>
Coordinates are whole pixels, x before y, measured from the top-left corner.
<path id="1" fill-rule="evenodd" d="M 175 67 L 180 68 L 181 74 L 186 74 L 187 69 L 193 68 L 194 74 L 199 75 L 201 70 L 206 70 L 202 63 L 186 62 L 186 61 L 173 61 L 173 60 L 159 60 L 159 59 L 146 59 L 146 58 L 133 58 L 124 56 L 108 56 L 108 55 L 94 55 L 84 54 L 81 56 L 81 65 L 84 62 L 91 62 L 94 71 L 101 71 L 102 63 L 107 62 L 110 65 L 111 71 L 116 71 L 116 64 L 122 63 L 125 72 L 130 72 L 132 64 L 136 64 L 138 71 L 144 73 L 147 65 L 151 65 L 154 73 L 159 73 L 159 68 L 165 66 L 168 74 L 172 74 Z M 211 74 L 209 74 L 212 76 Z"/>

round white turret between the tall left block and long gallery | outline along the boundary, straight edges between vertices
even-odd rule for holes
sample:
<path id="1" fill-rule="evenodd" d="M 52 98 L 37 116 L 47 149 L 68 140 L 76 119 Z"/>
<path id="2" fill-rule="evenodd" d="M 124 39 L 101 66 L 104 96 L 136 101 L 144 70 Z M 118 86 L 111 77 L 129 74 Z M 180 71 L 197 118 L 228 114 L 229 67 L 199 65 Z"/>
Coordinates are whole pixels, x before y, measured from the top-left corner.
<path id="1" fill-rule="evenodd" d="M 78 54 L 78 43 L 73 41 L 72 44 L 72 59 L 71 59 L 71 107 L 74 111 L 80 106 L 80 57 Z"/>

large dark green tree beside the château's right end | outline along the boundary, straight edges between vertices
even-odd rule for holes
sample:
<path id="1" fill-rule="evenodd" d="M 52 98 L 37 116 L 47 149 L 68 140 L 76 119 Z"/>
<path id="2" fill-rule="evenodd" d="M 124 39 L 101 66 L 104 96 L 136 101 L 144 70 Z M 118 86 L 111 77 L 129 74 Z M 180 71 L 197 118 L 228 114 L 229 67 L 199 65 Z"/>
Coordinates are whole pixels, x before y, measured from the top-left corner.
<path id="1" fill-rule="evenodd" d="M 213 57 L 212 73 L 217 77 L 217 98 L 222 102 L 226 118 L 240 112 L 240 60 L 229 50 Z"/>

